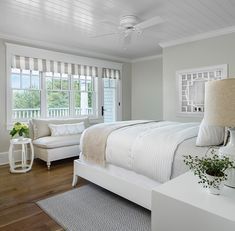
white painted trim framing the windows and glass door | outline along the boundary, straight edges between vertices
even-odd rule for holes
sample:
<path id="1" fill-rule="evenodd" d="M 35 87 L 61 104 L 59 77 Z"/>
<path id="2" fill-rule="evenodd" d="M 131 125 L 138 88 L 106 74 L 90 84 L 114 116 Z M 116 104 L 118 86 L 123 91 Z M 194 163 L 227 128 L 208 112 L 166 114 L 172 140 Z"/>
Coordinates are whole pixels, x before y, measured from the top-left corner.
<path id="1" fill-rule="evenodd" d="M 11 60 L 13 55 L 19 55 L 19 56 L 26 56 L 26 57 L 35 57 L 35 58 L 41 58 L 50 60 L 56 60 L 61 62 L 68 62 L 68 63 L 78 63 L 81 65 L 90 65 L 90 66 L 97 66 L 98 67 L 98 86 L 97 86 L 97 97 L 96 97 L 96 104 L 98 108 L 98 115 L 97 116 L 89 116 L 91 121 L 103 121 L 103 117 L 101 116 L 101 107 L 103 105 L 103 89 L 102 89 L 102 68 L 113 68 L 113 69 L 119 69 L 122 73 L 122 63 L 112 62 L 112 61 L 106 61 L 102 59 L 96 59 L 96 58 L 89 58 L 84 56 L 77 56 L 77 55 L 71 55 L 68 53 L 62 53 L 62 52 L 56 52 L 46 49 L 39 49 L 34 47 L 28 47 L 28 46 L 21 46 L 17 44 L 12 43 L 5 43 L 6 45 L 6 128 L 9 130 L 12 127 L 13 121 L 12 121 L 12 93 L 11 93 Z M 45 78 L 42 78 L 41 84 L 45 84 Z M 119 94 L 119 102 L 120 106 L 118 106 L 118 116 L 117 120 L 122 120 L 122 89 L 121 89 L 121 80 L 120 86 L 118 89 Z M 45 98 L 46 94 L 43 93 L 43 90 L 41 91 L 41 109 L 42 107 L 46 107 L 46 105 L 42 105 L 42 102 L 46 102 Z M 43 111 L 43 110 L 41 110 Z M 45 114 L 45 113 L 44 113 Z M 41 114 L 40 118 L 48 118 L 46 115 Z M 60 117 L 63 118 L 63 117 Z"/>

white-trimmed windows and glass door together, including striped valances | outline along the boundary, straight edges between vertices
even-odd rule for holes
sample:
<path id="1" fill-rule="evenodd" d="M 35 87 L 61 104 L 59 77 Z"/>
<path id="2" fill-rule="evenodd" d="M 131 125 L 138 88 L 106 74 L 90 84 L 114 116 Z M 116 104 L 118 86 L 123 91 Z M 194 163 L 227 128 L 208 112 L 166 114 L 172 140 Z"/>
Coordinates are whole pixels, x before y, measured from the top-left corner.
<path id="1" fill-rule="evenodd" d="M 121 64 L 6 45 L 8 128 L 15 121 L 31 118 L 121 119 Z"/>

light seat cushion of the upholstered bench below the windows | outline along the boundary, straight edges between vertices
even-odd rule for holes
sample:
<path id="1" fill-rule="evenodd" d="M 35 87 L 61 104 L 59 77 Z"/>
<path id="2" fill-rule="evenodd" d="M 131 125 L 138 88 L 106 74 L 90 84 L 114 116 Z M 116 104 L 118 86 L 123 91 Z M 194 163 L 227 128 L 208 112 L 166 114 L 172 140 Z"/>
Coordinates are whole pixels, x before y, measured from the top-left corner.
<path id="1" fill-rule="evenodd" d="M 50 149 L 65 146 L 79 145 L 81 134 L 70 136 L 46 136 L 33 141 L 33 144 L 40 148 Z"/>

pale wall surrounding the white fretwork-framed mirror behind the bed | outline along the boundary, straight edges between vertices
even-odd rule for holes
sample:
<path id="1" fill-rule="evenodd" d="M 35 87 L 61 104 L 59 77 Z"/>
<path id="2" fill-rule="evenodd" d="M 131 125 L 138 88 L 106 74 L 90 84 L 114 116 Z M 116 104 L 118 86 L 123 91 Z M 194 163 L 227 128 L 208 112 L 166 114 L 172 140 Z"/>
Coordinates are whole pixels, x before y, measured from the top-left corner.
<path id="1" fill-rule="evenodd" d="M 235 33 L 163 49 L 164 120 L 201 120 L 176 115 L 176 71 L 218 64 L 228 64 L 229 76 L 235 77 Z"/>

